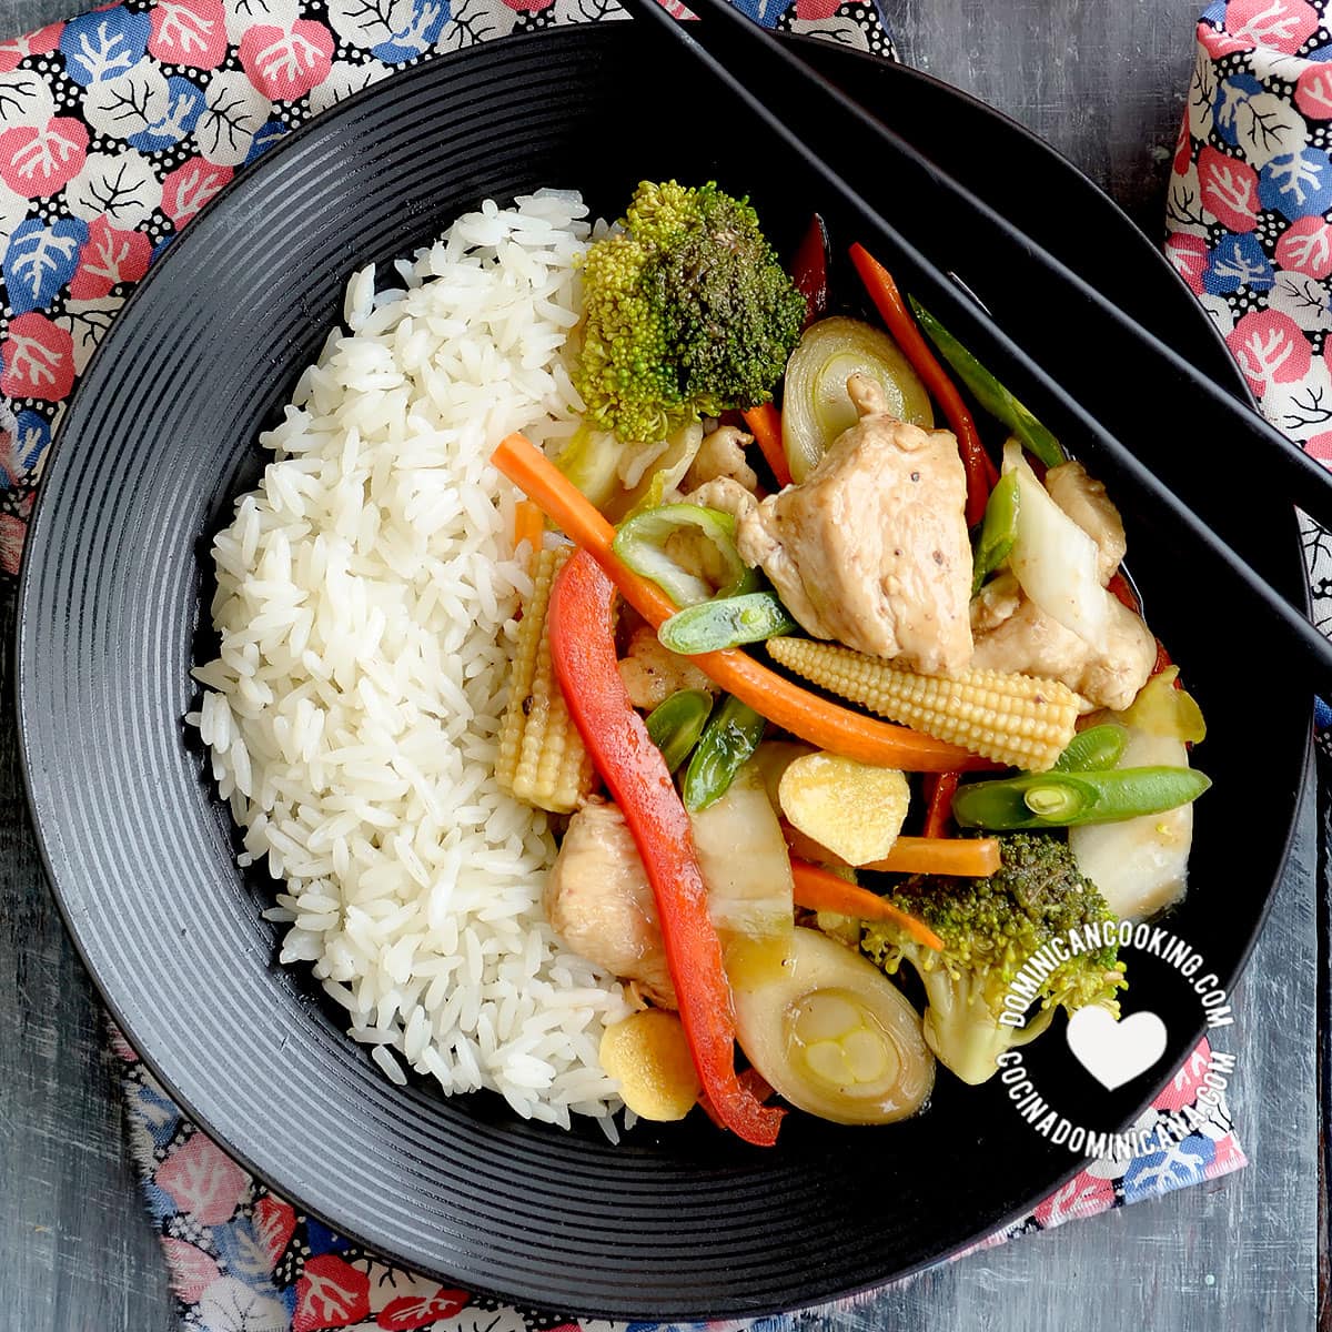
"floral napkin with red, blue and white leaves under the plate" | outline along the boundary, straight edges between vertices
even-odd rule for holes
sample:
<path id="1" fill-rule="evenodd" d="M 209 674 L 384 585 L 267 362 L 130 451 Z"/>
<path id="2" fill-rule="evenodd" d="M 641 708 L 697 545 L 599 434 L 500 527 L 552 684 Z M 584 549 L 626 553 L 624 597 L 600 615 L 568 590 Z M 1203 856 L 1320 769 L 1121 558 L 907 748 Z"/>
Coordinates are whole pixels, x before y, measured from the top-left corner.
<path id="1" fill-rule="evenodd" d="M 735 0 L 769 28 L 892 57 L 859 0 Z M 1167 253 L 1227 334 L 1263 410 L 1332 461 L 1332 0 L 1231 0 L 1199 25 Z M 0 595 L 51 433 L 117 308 L 237 170 L 310 116 L 432 56 L 618 17 L 613 0 L 123 0 L 0 44 Z M 1307 546 L 1320 622 L 1332 549 Z M 185 1327 L 611 1332 L 441 1287 L 252 1179 L 113 1034 L 129 1135 Z M 1205 1043 L 1139 1122 L 1195 1104 Z M 1221 1104 L 1175 1147 L 1098 1160 L 1002 1243 L 1244 1164 Z M 711 1324 L 761 1332 L 789 1319 Z M 655 1324 L 630 1324 L 647 1332 Z"/>

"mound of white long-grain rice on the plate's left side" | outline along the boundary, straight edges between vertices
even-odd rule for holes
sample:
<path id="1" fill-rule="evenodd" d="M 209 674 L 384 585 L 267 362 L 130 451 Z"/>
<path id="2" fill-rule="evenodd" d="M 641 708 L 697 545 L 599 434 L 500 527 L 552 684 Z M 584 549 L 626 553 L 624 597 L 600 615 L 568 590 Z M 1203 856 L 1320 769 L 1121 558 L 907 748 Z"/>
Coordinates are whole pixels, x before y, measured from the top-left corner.
<path id="1" fill-rule="evenodd" d="M 345 320 L 300 380 L 258 490 L 217 534 L 216 661 L 192 721 L 281 880 L 281 960 L 313 964 L 393 1082 L 489 1087 L 567 1127 L 617 1110 L 597 1050 L 621 986 L 541 911 L 546 815 L 496 786 L 519 595 L 511 430 L 558 448 L 581 406 L 577 196 L 458 218 Z M 607 1131 L 614 1132 L 606 1120 Z"/>

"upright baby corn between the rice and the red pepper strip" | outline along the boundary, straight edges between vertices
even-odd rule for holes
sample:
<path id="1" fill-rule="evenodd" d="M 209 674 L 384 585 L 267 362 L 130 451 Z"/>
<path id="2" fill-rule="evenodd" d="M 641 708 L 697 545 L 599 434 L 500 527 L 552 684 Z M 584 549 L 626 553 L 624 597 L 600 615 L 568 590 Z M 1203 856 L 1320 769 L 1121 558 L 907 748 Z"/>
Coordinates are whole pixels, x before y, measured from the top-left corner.
<path id="1" fill-rule="evenodd" d="M 522 609 L 509 677 L 509 709 L 500 731 L 496 778 L 519 801 L 570 814 L 593 787 L 593 766 L 550 665 L 546 609 L 571 546 L 537 557 L 531 597 Z"/>

